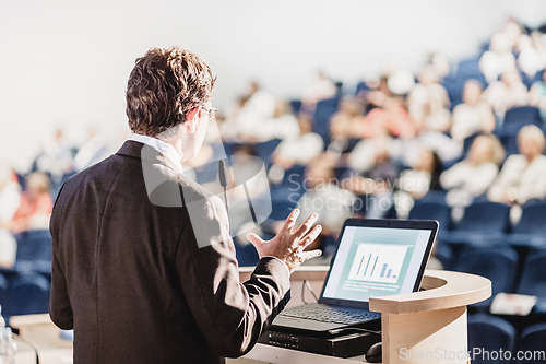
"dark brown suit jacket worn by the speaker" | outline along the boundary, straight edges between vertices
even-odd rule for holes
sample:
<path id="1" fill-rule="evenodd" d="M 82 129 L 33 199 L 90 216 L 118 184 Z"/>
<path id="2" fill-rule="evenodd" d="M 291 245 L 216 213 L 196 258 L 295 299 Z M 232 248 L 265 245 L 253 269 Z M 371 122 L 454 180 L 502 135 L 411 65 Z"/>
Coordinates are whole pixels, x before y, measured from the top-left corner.
<path id="1" fill-rule="evenodd" d="M 50 224 L 51 319 L 74 329 L 75 364 L 242 355 L 284 308 L 289 274 L 263 258 L 240 283 L 222 201 L 143 145 L 126 142 L 61 189 Z M 199 232 L 190 213 L 204 222 Z"/>

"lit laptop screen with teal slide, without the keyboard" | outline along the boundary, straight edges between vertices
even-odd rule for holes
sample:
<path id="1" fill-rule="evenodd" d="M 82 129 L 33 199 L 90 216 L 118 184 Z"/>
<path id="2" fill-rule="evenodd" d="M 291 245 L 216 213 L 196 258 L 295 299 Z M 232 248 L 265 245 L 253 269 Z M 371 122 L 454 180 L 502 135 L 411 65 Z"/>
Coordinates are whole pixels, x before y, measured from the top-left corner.
<path id="1" fill-rule="evenodd" d="M 346 224 L 322 298 L 367 303 L 371 296 L 418 290 L 436 224 L 412 221 L 393 221 L 392 226 L 391 223 L 389 226 Z"/>

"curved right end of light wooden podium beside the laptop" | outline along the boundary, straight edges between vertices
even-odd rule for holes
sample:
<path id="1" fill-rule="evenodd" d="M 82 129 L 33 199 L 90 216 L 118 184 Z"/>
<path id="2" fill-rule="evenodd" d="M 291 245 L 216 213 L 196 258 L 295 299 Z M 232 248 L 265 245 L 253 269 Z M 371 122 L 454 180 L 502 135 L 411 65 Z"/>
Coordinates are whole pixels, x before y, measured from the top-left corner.
<path id="1" fill-rule="evenodd" d="M 483 277 L 427 270 L 425 291 L 370 298 L 381 313 L 383 363 L 467 363 L 466 306 L 487 300 Z"/>

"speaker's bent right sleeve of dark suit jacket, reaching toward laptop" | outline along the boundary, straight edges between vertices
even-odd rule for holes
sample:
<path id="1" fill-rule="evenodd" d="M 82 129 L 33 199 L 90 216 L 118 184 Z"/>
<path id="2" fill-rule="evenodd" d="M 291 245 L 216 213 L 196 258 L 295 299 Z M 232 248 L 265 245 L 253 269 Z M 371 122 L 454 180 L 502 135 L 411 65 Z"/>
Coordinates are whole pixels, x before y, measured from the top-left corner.
<path id="1" fill-rule="evenodd" d="M 226 210 L 217 197 L 203 201 L 201 208 L 188 208 L 192 210 L 192 224 L 186 225 L 179 242 L 177 272 L 193 317 L 212 350 L 222 356 L 237 357 L 252 349 L 286 305 L 289 274 L 280 260 L 262 258 L 250 280 L 239 282 Z M 195 223 L 195 219 L 202 221 Z M 194 232 L 195 226 L 202 226 L 201 231 Z M 202 246 L 195 236 L 207 236 L 211 244 Z"/>

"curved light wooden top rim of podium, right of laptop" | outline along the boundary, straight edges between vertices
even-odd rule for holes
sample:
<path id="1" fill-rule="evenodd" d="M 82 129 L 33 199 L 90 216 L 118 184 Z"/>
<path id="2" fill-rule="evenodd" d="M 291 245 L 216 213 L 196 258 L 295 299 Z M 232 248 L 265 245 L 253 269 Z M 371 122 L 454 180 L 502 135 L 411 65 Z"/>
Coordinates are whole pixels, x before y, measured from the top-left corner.
<path id="1" fill-rule="evenodd" d="M 471 305 L 491 295 L 487 278 L 446 270 L 426 270 L 424 291 L 371 297 L 369 308 L 382 314 L 408 314 Z"/>

